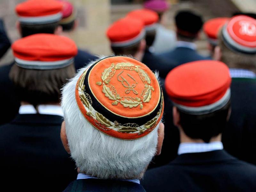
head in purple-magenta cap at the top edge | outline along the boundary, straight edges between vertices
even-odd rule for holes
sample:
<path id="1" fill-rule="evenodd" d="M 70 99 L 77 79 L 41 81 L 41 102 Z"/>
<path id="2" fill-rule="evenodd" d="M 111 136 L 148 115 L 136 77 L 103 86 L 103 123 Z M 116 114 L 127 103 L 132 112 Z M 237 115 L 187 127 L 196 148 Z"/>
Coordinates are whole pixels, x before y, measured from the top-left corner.
<path id="1" fill-rule="evenodd" d="M 169 9 L 170 4 L 165 0 L 150 0 L 146 1 L 143 6 L 145 9 L 157 12 L 159 17 L 158 22 L 164 24 L 164 13 Z"/>

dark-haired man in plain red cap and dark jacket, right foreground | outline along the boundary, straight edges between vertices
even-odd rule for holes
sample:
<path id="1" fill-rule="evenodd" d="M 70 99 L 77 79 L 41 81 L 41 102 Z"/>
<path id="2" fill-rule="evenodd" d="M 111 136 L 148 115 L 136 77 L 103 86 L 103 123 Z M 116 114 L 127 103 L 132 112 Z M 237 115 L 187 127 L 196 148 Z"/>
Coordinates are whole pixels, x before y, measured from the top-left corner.
<path id="1" fill-rule="evenodd" d="M 229 155 L 221 143 L 230 115 L 230 83 L 228 67 L 220 61 L 190 62 L 167 75 L 180 146 L 176 159 L 145 173 L 146 191 L 256 190 L 256 167 Z"/>

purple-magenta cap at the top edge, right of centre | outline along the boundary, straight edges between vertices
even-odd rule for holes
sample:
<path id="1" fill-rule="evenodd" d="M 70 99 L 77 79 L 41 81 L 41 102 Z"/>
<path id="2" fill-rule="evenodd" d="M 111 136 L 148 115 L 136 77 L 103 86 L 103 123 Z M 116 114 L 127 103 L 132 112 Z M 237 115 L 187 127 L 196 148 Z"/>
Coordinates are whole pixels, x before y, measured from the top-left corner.
<path id="1" fill-rule="evenodd" d="M 145 9 L 150 9 L 155 12 L 164 12 L 169 9 L 170 5 L 164 0 L 150 0 L 144 3 Z"/>

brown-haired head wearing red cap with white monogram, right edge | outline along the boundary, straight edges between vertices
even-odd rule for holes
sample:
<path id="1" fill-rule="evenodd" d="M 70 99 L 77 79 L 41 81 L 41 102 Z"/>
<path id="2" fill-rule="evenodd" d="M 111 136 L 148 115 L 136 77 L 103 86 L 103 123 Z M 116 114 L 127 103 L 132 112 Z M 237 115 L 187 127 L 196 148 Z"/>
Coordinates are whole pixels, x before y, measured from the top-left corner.
<path id="1" fill-rule="evenodd" d="M 243 15 L 232 17 L 219 33 L 214 57 L 229 68 L 256 71 L 256 20 Z"/>

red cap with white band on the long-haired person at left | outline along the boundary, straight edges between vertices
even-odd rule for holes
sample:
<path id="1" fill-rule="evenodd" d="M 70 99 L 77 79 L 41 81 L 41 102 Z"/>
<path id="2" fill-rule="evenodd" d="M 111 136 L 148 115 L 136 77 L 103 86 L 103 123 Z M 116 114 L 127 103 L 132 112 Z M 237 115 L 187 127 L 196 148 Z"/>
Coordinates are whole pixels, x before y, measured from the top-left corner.
<path id="1" fill-rule="evenodd" d="M 74 62 L 73 40 L 53 34 L 35 34 L 15 41 L 12 51 L 16 65 L 28 69 L 64 68 Z"/>

